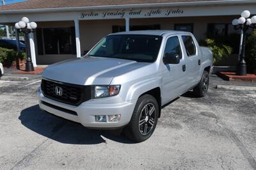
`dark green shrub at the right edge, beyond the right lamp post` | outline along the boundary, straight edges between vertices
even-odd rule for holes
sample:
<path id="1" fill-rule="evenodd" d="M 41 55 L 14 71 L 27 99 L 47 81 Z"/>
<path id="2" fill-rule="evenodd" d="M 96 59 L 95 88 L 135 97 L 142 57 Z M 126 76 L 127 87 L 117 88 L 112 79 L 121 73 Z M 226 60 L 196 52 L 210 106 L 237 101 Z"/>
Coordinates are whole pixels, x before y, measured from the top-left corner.
<path id="1" fill-rule="evenodd" d="M 256 73 L 256 31 L 246 40 L 245 61 L 249 73 Z"/>

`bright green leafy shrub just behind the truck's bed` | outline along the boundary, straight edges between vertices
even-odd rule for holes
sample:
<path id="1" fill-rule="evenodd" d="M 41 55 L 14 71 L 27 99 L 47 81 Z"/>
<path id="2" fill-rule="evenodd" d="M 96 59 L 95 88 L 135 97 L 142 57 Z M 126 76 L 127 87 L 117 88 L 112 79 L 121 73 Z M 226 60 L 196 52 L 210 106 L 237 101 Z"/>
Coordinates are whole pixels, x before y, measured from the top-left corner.
<path id="1" fill-rule="evenodd" d="M 216 64 L 221 61 L 221 58 L 228 56 L 232 53 L 232 47 L 222 43 L 216 43 L 215 40 L 206 38 L 207 46 L 212 50 L 213 63 Z"/>

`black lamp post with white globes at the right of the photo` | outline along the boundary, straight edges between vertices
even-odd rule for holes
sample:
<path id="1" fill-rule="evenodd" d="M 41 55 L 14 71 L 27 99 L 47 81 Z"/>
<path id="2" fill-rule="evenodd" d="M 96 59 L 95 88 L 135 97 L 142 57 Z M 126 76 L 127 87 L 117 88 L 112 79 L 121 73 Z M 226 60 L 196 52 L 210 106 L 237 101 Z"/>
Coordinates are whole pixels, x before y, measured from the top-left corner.
<path id="1" fill-rule="evenodd" d="M 251 27 L 252 29 L 256 27 L 256 16 L 253 16 L 249 19 L 251 13 L 248 10 L 245 10 L 241 13 L 239 19 L 232 20 L 232 25 L 234 29 L 241 29 L 241 40 L 242 40 L 242 49 L 239 56 L 239 63 L 237 65 L 236 74 L 237 75 L 246 75 L 246 62 L 245 58 L 245 41 L 246 41 L 246 31 Z"/>

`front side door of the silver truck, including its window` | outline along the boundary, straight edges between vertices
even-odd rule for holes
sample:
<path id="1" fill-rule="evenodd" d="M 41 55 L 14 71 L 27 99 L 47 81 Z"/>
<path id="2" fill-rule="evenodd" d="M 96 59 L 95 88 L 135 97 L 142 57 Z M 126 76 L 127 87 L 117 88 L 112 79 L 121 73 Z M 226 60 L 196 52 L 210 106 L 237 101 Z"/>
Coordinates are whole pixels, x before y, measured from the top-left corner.
<path id="1" fill-rule="evenodd" d="M 179 97 L 184 92 L 184 89 L 186 89 L 186 59 L 184 59 L 180 45 L 181 41 L 180 36 L 169 36 L 166 40 L 164 54 L 178 54 L 180 56 L 180 63 L 163 65 L 163 104 Z"/>

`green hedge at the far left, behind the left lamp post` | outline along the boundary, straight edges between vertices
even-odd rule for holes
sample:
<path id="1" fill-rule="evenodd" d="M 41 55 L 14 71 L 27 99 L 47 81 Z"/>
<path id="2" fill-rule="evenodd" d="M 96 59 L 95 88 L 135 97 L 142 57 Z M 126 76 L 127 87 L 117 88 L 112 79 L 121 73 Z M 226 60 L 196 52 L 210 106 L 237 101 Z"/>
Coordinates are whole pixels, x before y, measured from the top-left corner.
<path id="1" fill-rule="evenodd" d="M 3 63 L 4 65 L 12 65 L 16 58 L 26 59 L 26 52 L 17 52 L 12 49 L 0 47 L 0 63 Z"/>

